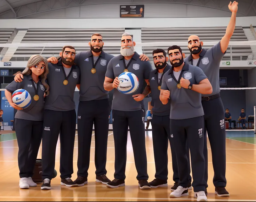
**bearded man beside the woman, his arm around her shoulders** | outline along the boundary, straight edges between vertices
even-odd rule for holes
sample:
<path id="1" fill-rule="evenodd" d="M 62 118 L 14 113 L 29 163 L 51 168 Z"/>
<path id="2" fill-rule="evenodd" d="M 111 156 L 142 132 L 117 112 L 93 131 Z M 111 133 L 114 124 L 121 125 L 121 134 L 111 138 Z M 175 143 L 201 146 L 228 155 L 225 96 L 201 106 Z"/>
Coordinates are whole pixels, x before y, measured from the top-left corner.
<path id="1" fill-rule="evenodd" d="M 80 84 L 80 70 L 74 65 L 75 48 L 64 46 L 57 64 L 50 63 L 47 81 L 50 94 L 45 99 L 42 134 L 42 179 L 41 189 L 51 189 L 51 179 L 55 167 L 55 153 L 58 137 L 61 142 L 60 173 L 61 185 L 77 186 L 72 180 L 73 151 L 75 141 L 76 113 L 74 91 Z M 15 81 L 22 81 L 23 75 L 17 74 Z"/>

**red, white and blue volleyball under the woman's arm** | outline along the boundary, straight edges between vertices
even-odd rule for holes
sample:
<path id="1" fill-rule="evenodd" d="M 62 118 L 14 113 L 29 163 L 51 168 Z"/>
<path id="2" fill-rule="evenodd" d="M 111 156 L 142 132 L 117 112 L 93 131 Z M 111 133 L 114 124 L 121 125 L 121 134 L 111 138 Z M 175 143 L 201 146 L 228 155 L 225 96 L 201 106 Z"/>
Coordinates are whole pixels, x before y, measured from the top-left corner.
<path id="1" fill-rule="evenodd" d="M 11 98 L 16 105 L 23 109 L 27 108 L 32 102 L 29 92 L 24 89 L 15 90 Z"/>

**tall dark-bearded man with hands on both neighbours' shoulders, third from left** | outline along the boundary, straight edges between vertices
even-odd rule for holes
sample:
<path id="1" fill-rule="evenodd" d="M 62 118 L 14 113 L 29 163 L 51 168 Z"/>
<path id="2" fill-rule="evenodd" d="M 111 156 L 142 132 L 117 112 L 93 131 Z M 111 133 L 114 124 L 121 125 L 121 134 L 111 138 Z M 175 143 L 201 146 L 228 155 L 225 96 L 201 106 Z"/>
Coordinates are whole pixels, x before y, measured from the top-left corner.
<path id="1" fill-rule="evenodd" d="M 107 65 L 113 55 L 104 52 L 102 35 L 95 33 L 88 43 L 89 51 L 79 52 L 75 56 L 75 64 L 80 67 L 81 84 L 78 105 L 78 172 L 74 181 L 78 186 L 88 183 L 88 169 L 90 164 L 90 146 L 93 125 L 95 129 L 95 181 L 107 184 L 110 180 L 106 176 L 107 137 L 109 131 L 109 91 L 103 87 Z M 148 60 L 144 54 L 141 60 Z M 52 58 L 56 60 L 55 58 Z M 53 61 L 54 62 L 54 61 Z"/>

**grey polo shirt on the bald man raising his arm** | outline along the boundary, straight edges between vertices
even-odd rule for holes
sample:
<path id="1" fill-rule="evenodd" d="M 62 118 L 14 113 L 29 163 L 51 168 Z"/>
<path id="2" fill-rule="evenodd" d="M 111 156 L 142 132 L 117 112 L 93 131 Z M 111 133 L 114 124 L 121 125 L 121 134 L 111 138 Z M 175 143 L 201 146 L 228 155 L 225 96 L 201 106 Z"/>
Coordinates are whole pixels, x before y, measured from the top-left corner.
<path id="1" fill-rule="evenodd" d="M 225 53 L 221 51 L 221 42 L 218 42 L 216 45 L 209 48 L 208 50 L 202 49 L 202 51 L 200 52 L 200 58 L 198 60 L 197 66 L 203 70 L 205 75 L 208 77 L 211 86 L 213 87 L 213 92 L 211 94 L 202 95 L 202 97 L 216 95 L 221 91 L 221 89 L 219 88 L 219 63 L 221 62 L 222 57 L 225 55 Z M 184 59 L 184 62 L 192 65 L 192 54 L 187 56 Z"/>

